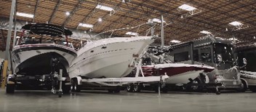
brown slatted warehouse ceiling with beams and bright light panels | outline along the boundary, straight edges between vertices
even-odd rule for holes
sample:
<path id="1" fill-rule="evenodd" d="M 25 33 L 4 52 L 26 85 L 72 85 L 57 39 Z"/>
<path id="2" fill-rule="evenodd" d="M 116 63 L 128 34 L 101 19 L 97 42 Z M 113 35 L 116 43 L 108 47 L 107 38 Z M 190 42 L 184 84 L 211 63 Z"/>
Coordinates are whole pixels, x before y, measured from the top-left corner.
<path id="1" fill-rule="evenodd" d="M 11 2 L 0 0 L 0 17 L 9 17 Z M 179 8 L 183 4 L 193 9 L 188 11 L 188 7 Z M 105 9 L 108 11 L 103 7 L 107 7 Z M 206 35 L 200 33 L 201 31 L 208 31 L 226 39 L 236 37 L 240 41 L 254 41 L 256 36 L 255 0 L 17 0 L 17 12 L 34 15 L 17 16 L 17 20 L 25 20 L 28 23 L 52 23 L 87 33 L 129 28 L 114 31 L 113 34 L 117 36 L 127 36 L 128 31 L 145 36 L 151 26 L 141 24 L 148 22 L 149 19 L 161 19 L 163 15 L 166 44 L 172 40 L 199 39 Z M 241 24 L 231 25 L 234 21 Z M 81 23 L 93 27 L 86 28 Z M 130 29 L 137 25 L 141 26 Z M 0 31 L 1 45 L 7 39 L 7 33 L 3 32 Z M 159 25 L 155 34 L 160 35 Z M 3 50 L 4 46 L 0 49 Z"/>

